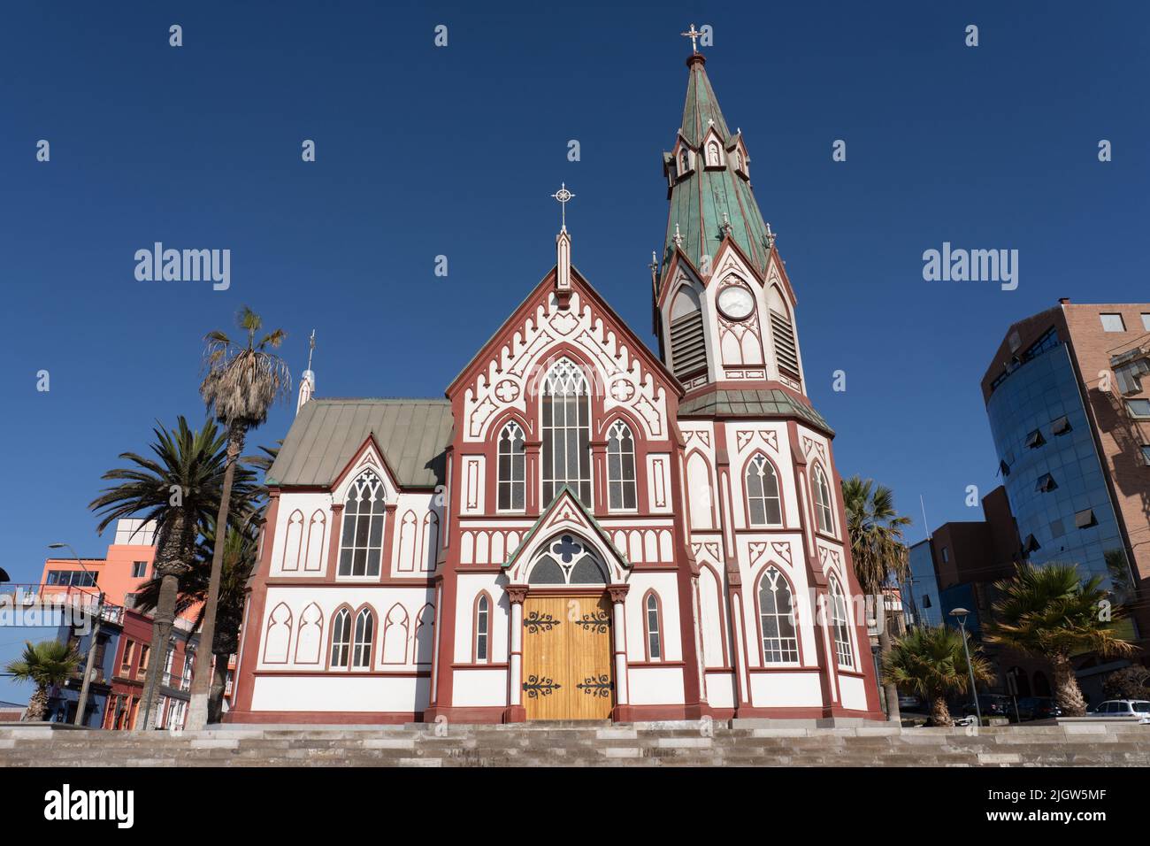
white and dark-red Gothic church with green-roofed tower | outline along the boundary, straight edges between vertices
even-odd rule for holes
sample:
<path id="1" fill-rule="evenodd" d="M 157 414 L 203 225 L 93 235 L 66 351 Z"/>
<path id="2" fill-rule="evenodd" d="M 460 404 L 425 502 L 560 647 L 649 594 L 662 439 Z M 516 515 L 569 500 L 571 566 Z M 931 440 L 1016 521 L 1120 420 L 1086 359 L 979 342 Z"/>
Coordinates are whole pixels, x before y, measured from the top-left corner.
<path id="1" fill-rule="evenodd" d="M 659 355 L 565 222 L 444 398 L 324 399 L 309 364 L 229 722 L 883 718 L 795 289 L 746 143 L 687 66 Z"/>

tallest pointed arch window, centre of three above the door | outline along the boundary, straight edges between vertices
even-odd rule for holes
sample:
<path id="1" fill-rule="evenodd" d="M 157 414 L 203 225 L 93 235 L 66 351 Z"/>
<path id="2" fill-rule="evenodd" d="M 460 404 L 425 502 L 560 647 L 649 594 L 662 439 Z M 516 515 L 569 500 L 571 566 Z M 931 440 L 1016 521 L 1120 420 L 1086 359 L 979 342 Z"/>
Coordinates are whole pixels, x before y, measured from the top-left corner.
<path id="1" fill-rule="evenodd" d="M 591 398 L 586 376 L 562 358 L 543 386 L 543 504 L 566 485 L 591 506 Z"/>

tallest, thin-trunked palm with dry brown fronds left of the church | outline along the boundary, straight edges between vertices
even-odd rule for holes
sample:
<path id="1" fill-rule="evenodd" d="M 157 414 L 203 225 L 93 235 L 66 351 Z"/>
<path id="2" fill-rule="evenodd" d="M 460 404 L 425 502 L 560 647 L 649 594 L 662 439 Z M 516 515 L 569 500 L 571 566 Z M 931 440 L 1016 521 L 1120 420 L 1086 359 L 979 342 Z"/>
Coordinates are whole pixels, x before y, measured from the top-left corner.
<path id="1" fill-rule="evenodd" d="M 231 503 L 232 477 L 239 454 L 244 450 L 247 430 L 268 419 L 271 404 L 291 391 L 291 373 L 282 358 L 269 352 L 278 348 L 286 337 L 283 329 L 276 329 L 259 341 L 263 321 L 246 305 L 240 310 L 237 322 L 247 333 L 247 345 L 240 346 L 222 331 L 210 331 L 205 337 L 207 350 L 205 363 L 207 374 L 200 384 L 200 395 L 216 420 L 228 427 L 228 458 L 223 478 L 223 494 L 220 498 L 217 526 L 228 525 L 228 509 Z M 224 532 L 227 535 L 227 532 Z M 214 645 L 216 628 L 216 605 L 220 597 L 220 578 L 223 569 L 224 538 L 215 536 L 212 554 L 212 573 L 208 595 L 204 607 L 204 627 L 200 642 Z M 192 681 L 192 702 L 187 709 L 187 726 L 202 729 L 208 721 L 208 677 L 200 662 Z"/>

